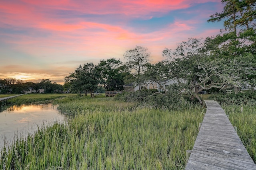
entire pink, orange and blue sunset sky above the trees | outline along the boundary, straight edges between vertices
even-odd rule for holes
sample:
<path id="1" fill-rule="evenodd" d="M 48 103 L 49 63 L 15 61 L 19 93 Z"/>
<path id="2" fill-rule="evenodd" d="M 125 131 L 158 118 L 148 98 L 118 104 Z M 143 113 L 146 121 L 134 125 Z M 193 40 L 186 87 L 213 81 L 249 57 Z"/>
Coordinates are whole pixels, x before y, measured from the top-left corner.
<path id="1" fill-rule="evenodd" d="M 136 45 L 156 63 L 164 48 L 220 33 L 223 23 L 207 20 L 223 6 L 221 0 L 2 0 L 0 79 L 63 84 L 80 64 L 125 62 Z"/>

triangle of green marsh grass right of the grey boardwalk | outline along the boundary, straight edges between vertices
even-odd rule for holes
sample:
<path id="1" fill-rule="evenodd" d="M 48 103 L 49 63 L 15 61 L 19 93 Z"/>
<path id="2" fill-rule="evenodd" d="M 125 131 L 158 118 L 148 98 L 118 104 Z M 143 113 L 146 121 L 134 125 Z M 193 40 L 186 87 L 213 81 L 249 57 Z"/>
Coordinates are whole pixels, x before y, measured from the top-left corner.
<path id="1" fill-rule="evenodd" d="M 241 107 L 243 107 L 242 111 Z M 256 163 L 256 106 L 224 105 L 222 108 L 229 115 L 232 125 L 237 127 L 238 136 Z"/>

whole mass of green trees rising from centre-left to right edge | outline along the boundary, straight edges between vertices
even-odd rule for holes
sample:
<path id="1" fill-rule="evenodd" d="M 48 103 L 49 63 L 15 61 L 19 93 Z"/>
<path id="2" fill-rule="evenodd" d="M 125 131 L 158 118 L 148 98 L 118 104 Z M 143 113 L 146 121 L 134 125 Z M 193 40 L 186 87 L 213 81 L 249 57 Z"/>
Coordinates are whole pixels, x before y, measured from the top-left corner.
<path id="1" fill-rule="evenodd" d="M 220 34 L 205 39 L 190 38 L 176 47 L 165 48 L 164 59 L 150 62 L 148 49 L 136 46 L 124 53 L 125 63 L 115 58 L 98 65 L 82 64 L 69 76 L 65 85 L 72 91 L 93 92 L 99 87 L 122 90 L 124 84 L 142 86 L 148 81 L 183 78 L 178 91 L 197 98 L 203 90 L 256 87 L 256 2 L 222 0 L 223 11 L 210 16 L 208 22 L 224 21 Z M 161 86 L 160 86 L 161 88 Z M 201 101 L 200 101 L 201 102 Z"/>

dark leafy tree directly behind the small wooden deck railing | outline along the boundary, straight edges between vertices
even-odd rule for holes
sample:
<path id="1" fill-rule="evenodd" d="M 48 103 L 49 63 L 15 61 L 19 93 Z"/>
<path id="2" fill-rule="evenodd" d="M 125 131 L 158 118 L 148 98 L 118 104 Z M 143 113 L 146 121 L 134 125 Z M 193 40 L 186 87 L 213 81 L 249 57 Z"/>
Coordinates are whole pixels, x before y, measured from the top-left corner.
<path id="1" fill-rule="evenodd" d="M 100 84 L 108 91 L 123 90 L 124 78 L 121 70 L 122 62 L 115 58 L 101 60 L 97 68 L 100 72 Z"/>

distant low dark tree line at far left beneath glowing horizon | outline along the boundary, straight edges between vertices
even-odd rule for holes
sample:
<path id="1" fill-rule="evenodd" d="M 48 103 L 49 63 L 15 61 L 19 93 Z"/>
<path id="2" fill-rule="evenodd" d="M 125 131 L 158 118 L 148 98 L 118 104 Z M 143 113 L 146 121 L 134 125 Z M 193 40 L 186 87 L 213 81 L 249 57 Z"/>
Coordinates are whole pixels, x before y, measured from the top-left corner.
<path id="1" fill-rule="evenodd" d="M 41 82 L 24 82 L 15 78 L 0 79 L 0 93 L 20 94 L 32 89 L 39 93 L 39 89 L 44 89 L 43 93 L 62 93 L 64 87 L 61 84 L 52 83 L 49 79 L 42 79 Z"/>

